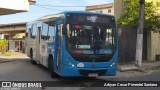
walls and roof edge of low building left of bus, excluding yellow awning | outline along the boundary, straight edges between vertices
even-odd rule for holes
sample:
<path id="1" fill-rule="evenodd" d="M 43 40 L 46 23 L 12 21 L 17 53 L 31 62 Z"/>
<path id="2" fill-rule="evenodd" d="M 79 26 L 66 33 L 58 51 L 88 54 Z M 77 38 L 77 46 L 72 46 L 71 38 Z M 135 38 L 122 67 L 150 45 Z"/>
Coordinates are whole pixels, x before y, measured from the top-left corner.
<path id="1" fill-rule="evenodd" d="M 22 43 L 24 43 L 24 39 L 13 37 L 18 33 L 25 33 L 25 28 L 26 23 L 24 22 L 14 24 L 0 24 L 0 34 L 9 35 L 9 37 L 7 38 L 9 42 L 9 51 L 20 51 L 22 49 Z"/>

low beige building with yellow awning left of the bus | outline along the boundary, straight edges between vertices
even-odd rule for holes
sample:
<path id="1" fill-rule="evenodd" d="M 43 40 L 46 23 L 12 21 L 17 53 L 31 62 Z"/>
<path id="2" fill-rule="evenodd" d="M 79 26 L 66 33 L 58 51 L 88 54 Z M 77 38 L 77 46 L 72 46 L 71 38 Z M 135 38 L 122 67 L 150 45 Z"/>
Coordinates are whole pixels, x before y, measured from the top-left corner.
<path id="1" fill-rule="evenodd" d="M 8 51 L 20 52 L 25 47 L 26 22 L 0 24 L 0 38 L 8 40 Z"/>

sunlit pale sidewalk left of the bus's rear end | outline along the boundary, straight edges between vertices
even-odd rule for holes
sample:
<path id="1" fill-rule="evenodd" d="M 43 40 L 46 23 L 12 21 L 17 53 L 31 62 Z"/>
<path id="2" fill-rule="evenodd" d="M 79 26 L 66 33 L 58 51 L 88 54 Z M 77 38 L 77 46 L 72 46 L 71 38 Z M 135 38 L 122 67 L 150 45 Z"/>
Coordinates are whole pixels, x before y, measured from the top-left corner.
<path id="1" fill-rule="evenodd" d="M 26 54 L 19 52 L 14 52 L 11 56 L 0 55 L 0 63 L 11 62 L 15 59 L 29 59 L 29 57 Z"/>

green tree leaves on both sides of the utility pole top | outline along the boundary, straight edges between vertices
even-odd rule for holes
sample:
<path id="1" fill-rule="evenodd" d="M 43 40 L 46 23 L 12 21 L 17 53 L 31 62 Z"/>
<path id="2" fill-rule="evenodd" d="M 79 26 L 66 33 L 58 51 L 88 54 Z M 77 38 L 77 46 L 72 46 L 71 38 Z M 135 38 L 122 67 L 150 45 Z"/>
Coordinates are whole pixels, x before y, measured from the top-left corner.
<path id="1" fill-rule="evenodd" d="M 139 0 L 122 0 L 125 3 L 125 15 L 118 21 L 118 24 L 127 26 L 138 26 L 139 19 Z M 160 2 L 145 2 L 145 22 L 144 28 L 160 32 Z M 157 13 L 159 11 L 159 13 Z"/>

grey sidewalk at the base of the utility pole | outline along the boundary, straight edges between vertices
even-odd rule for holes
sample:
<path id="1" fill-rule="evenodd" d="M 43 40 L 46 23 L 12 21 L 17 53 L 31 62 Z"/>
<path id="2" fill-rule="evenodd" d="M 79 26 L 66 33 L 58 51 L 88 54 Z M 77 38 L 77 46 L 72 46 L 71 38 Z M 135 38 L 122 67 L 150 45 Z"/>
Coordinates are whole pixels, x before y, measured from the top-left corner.
<path id="1" fill-rule="evenodd" d="M 134 63 L 119 64 L 116 78 L 127 78 L 127 77 L 129 78 L 134 76 L 140 76 L 140 75 L 150 74 L 157 70 L 160 70 L 160 61 L 143 62 L 141 69 L 137 68 L 134 65 Z"/>

